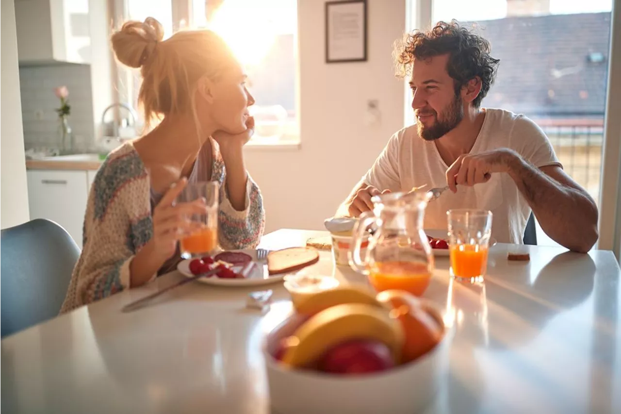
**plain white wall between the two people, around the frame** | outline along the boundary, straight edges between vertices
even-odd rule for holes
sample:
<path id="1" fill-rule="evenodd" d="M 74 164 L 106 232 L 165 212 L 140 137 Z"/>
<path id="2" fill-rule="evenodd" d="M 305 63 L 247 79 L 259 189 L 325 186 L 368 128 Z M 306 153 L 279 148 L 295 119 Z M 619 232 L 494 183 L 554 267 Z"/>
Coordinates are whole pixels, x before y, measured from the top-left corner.
<path id="1" fill-rule="evenodd" d="M 266 232 L 323 229 L 404 125 L 404 83 L 394 78 L 391 55 L 406 30 L 406 0 L 368 0 L 367 7 L 368 61 L 327 64 L 324 1 L 298 1 L 301 149 L 246 152 L 263 192 Z M 369 99 L 379 101 L 378 126 L 365 126 Z"/>

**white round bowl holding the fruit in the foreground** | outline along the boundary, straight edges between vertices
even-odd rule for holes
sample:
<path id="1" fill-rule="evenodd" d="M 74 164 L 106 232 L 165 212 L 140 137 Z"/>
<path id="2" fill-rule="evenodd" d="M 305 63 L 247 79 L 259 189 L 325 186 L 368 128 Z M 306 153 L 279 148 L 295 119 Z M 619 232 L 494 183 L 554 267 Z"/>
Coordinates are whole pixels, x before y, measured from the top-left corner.
<path id="1" fill-rule="evenodd" d="M 381 374 L 340 376 L 284 367 L 273 354 L 304 317 L 292 316 L 263 344 L 271 407 L 278 414 L 412 414 L 423 410 L 446 386 L 452 329 L 437 307 L 427 304 L 444 326 L 442 340 L 424 356 Z"/>

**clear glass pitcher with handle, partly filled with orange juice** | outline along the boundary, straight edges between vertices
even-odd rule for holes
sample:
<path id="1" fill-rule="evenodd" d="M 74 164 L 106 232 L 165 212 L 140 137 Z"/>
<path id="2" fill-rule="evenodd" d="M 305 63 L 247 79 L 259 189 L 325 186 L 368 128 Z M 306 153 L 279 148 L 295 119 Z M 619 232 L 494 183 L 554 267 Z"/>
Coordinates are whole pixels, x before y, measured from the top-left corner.
<path id="1" fill-rule="evenodd" d="M 350 266 L 378 292 L 398 289 L 420 296 L 427 289 L 433 274 L 432 249 L 423 230 L 428 197 L 424 192 L 374 196 L 373 211 L 356 223 Z M 365 251 L 361 245 L 369 232 Z"/>

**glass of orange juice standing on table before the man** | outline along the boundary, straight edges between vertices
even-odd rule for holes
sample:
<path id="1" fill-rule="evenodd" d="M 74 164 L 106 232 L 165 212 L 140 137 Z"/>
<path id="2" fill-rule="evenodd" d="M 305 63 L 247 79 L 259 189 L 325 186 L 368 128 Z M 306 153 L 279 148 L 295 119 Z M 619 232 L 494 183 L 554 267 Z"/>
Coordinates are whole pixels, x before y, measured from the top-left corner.
<path id="1" fill-rule="evenodd" d="M 492 212 L 452 209 L 446 214 L 451 275 L 469 282 L 483 282 L 492 233 Z"/>

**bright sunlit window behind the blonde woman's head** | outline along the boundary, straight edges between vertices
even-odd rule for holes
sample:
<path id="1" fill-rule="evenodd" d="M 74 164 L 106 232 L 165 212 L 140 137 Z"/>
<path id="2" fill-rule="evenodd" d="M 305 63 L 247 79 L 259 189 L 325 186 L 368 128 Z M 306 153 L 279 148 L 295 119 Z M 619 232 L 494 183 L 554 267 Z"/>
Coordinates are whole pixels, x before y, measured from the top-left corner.
<path id="1" fill-rule="evenodd" d="M 299 142 L 296 0 L 124 1 L 124 19 L 155 17 L 165 27 L 165 39 L 178 27 L 222 36 L 247 70 L 256 100 L 250 108 L 256 124 L 251 144 Z M 119 68 L 117 89 L 120 101 L 138 109 L 138 71 Z"/>

